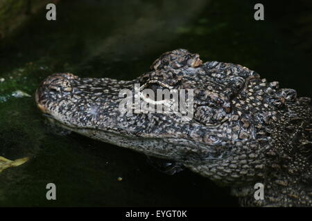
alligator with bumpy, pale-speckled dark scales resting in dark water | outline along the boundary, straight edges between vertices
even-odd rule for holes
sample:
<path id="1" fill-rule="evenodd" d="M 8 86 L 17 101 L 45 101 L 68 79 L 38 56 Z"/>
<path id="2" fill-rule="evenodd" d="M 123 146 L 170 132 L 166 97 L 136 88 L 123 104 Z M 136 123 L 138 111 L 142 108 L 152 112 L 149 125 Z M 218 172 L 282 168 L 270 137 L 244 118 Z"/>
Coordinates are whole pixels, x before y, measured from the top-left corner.
<path id="1" fill-rule="evenodd" d="M 141 90 L 192 91 L 193 115 L 121 111 L 121 90 L 135 93 L 136 84 L 140 99 L 168 106 L 170 96 L 156 101 Z M 198 54 L 178 49 L 130 81 L 50 75 L 35 100 L 66 130 L 162 159 L 173 173 L 183 166 L 231 186 L 241 206 L 312 206 L 310 98 L 244 66 L 203 63 Z M 257 184 L 263 198 L 256 197 Z"/>

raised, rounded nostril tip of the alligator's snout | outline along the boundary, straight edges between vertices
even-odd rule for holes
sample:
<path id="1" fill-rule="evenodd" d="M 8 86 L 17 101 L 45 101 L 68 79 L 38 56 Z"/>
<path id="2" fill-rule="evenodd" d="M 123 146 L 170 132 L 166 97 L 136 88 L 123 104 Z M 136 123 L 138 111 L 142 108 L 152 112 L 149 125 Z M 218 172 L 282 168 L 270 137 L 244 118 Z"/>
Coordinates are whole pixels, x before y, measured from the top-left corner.
<path id="1" fill-rule="evenodd" d="M 58 73 L 44 79 L 35 93 L 38 108 L 46 113 L 51 102 L 57 102 L 69 95 L 72 90 L 71 82 L 76 78 L 77 76 L 71 73 Z"/>

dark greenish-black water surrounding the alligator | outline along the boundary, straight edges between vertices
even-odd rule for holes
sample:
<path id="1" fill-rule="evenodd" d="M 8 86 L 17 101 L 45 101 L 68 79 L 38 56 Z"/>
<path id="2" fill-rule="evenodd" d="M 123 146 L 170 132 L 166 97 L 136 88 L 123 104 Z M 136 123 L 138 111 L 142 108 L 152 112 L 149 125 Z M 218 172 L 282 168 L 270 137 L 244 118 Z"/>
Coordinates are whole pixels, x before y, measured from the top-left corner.
<path id="1" fill-rule="evenodd" d="M 1 43 L 0 155 L 31 160 L 0 173 L 0 206 L 237 206 L 229 188 L 189 171 L 165 175 L 144 155 L 54 135 L 34 93 L 51 73 L 132 79 L 162 52 L 187 48 L 311 97 L 311 3 L 264 1 L 265 21 L 253 19 L 254 3 L 60 1 L 57 21 L 46 21 L 42 10 Z M 12 97 L 15 90 L 31 97 Z M 50 182 L 58 200 L 46 200 Z"/>

